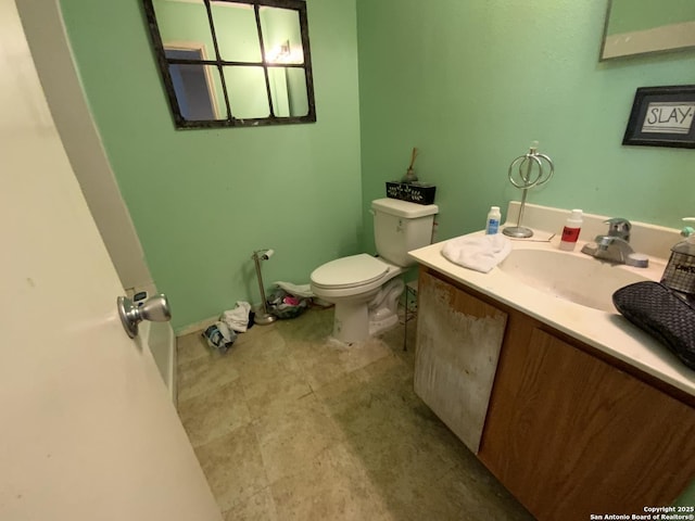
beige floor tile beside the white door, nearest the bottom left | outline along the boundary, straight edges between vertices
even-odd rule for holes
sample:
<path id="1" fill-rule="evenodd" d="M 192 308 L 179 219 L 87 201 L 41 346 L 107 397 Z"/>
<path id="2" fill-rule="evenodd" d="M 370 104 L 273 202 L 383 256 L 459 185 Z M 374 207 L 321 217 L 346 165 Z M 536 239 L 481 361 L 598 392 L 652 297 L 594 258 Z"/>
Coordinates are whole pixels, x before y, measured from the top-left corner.
<path id="1" fill-rule="evenodd" d="M 251 425 L 195 447 L 195 454 L 222 511 L 249 507 L 248 501 L 268 486 Z"/>

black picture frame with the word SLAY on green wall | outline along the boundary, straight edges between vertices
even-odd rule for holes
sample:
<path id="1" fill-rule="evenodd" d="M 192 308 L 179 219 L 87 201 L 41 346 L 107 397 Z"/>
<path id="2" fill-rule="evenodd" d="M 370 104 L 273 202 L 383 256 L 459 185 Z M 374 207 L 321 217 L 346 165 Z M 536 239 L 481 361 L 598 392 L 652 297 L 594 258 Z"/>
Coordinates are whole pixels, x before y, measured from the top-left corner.
<path id="1" fill-rule="evenodd" d="M 622 144 L 695 149 L 695 85 L 640 87 Z"/>

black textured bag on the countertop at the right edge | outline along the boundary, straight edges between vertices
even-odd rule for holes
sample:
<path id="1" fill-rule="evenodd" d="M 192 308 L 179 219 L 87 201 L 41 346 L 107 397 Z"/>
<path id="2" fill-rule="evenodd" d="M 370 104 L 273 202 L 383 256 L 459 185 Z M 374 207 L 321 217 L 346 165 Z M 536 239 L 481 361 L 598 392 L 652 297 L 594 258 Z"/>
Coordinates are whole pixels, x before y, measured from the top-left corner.
<path id="1" fill-rule="evenodd" d="M 616 308 L 695 369 L 695 308 L 658 282 L 636 282 L 612 294 Z"/>

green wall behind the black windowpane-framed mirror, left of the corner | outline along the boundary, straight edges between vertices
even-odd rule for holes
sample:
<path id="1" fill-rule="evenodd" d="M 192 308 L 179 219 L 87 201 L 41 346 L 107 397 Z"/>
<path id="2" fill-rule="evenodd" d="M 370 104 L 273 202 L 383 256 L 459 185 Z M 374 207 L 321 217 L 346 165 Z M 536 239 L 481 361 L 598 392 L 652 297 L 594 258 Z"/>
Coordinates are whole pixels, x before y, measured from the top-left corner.
<path id="1" fill-rule="evenodd" d="M 61 0 L 83 85 L 177 330 L 361 245 L 354 0 L 309 0 L 317 123 L 176 130 L 140 0 Z"/>

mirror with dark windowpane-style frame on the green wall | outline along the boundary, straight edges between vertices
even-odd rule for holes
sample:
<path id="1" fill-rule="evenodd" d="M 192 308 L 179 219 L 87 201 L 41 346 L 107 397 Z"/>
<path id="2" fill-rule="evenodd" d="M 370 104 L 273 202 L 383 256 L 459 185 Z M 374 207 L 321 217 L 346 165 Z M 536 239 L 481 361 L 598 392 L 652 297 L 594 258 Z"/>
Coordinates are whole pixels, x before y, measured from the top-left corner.
<path id="1" fill-rule="evenodd" d="M 302 0 L 143 0 L 177 128 L 316 122 Z"/>

